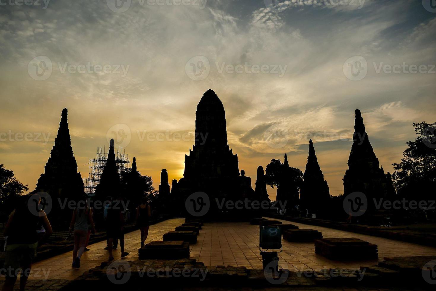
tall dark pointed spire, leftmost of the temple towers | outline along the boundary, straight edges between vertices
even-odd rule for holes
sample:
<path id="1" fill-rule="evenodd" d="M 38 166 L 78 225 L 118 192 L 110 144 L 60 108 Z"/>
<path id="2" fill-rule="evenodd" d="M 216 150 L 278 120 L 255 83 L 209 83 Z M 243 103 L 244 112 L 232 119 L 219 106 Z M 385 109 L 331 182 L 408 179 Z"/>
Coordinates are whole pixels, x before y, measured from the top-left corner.
<path id="1" fill-rule="evenodd" d="M 44 174 L 41 174 L 33 191 L 33 193 L 49 193 L 53 202 L 58 201 L 58 198 L 74 200 L 85 194 L 82 176 L 77 172 L 77 163 L 71 147 L 67 115 L 68 110 L 64 108 L 58 135 L 54 140 L 47 164 L 45 164 Z M 56 207 L 57 203 L 54 204 Z M 68 215 L 70 215 L 69 212 Z"/>

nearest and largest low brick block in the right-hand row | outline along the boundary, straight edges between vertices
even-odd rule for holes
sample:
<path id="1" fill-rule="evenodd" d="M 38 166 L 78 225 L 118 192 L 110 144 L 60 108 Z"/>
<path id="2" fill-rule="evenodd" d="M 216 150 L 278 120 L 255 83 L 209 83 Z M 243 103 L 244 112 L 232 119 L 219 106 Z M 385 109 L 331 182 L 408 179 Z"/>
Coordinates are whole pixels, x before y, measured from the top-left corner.
<path id="1" fill-rule="evenodd" d="M 315 253 L 330 260 L 374 260 L 378 258 L 377 245 L 353 237 L 315 240 Z"/>

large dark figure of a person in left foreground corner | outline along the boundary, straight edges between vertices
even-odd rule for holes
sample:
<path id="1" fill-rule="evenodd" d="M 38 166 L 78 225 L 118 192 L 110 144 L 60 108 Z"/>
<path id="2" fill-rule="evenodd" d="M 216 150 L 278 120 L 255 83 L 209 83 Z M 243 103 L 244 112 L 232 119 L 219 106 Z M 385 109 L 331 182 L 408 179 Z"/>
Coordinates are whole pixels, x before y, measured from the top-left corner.
<path id="1" fill-rule="evenodd" d="M 40 209 L 40 196 L 34 194 L 30 196 L 30 199 L 32 199 L 30 203 L 25 203 L 14 209 L 3 232 L 3 235 L 7 236 L 4 260 L 6 278 L 3 290 L 14 289 L 19 268 L 21 268 L 20 290 L 24 290 L 32 261 L 37 254 L 38 234 L 36 231 L 39 229 L 38 223 L 41 223 L 45 229 L 43 239 L 47 239 L 53 232 L 44 210 Z"/>

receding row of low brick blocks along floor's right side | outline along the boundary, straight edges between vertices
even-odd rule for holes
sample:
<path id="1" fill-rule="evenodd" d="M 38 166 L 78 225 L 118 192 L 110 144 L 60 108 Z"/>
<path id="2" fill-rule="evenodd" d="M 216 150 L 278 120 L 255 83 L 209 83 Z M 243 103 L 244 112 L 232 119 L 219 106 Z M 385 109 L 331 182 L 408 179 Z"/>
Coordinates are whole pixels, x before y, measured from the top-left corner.
<path id="1" fill-rule="evenodd" d="M 284 224 L 278 220 L 265 218 L 252 219 L 251 224 L 280 227 L 283 239 L 290 242 L 312 242 L 315 253 L 330 260 L 374 260 L 378 258 L 377 245 L 354 237 L 323 238 L 322 233 L 314 229 L 299 229 L 293 224 Z"/>

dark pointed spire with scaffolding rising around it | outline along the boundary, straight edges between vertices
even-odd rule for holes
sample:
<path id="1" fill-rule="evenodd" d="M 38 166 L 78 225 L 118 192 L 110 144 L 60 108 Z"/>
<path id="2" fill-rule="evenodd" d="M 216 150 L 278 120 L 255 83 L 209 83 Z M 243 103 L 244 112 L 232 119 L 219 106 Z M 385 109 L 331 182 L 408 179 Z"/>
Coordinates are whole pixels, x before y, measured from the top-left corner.
<path id="1" fill-rule="evenodd" d="M 113 139 L 109 143 L 109 153 L 106 160 L 105 168 L 100 177 L 99 185 L 95 188 L 95 199 L 104 201 L 107 196 L 116 199 L 121 196 L 121 180 L 119 178 L 118 169 L 115 161 L 115 149 L 113 147 Z"/>

